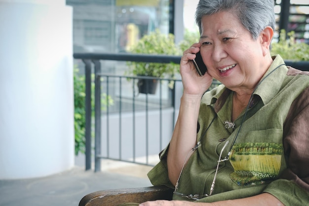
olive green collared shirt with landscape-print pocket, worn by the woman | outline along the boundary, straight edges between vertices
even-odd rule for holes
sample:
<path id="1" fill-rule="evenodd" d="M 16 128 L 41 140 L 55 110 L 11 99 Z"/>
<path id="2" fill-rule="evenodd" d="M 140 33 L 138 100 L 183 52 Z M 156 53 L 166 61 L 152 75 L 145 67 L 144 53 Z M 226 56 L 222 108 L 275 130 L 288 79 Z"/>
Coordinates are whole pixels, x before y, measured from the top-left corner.
<path id="1" fill-rule="evenodd" d="M 294 158 L 290 152 L 297 151 L 298 148 L 294 148 L 296 146 L 291 146 L 289 142 L 290 139 L 294 142 L 296 133 L 287 131 L 294 124 L 287 125 L 286 122 L 290 119 L 288 117 L 304 111 L 292 114 L 291 106 L 295 105 L 294 100 L 309 87 L 309 73 L 295 71 L 298 70 L 285 66 L 282 58 L 276 56 L 254 91 L 246 114 L 244 111 L 234 121 L 234 129 L 225 128 L 224 124 L 225 121 L 231 122 L 233 91 L 220 85 L 203 95 L 197 132 L 197 141 L 200 140 L 201 145 L 188 160 L 177 192 L 186 195 L 209 194 L 219 154 L 225 144 L 223 140 L 226 139 L 229 144 L 222 158 L 231 151 L 230 160 L 220 163 L 213 194 L 198 202 L 232 200 L 268 192 L 285 206 L 304 206 L 309 203 L 309 166 L 305 172 L 301 172 L 305 173 L 305 177 L 298 177 L 300 172 L 295 170 L 299 169 L 294 166 L 290 168 L 290 162 L 295 160 L 300 160 L 299 164 L 303 161 L 309 165 L 308 152 L 302 149 L 301 154 Z M 308 107 L 305 115 L 301 115 L 301 121 L 309 120 Z M 299 131 L 300 128 L 296 130 Z M 304 132 L 301 136 L 305 142 L 298 142 L 297 145 L 306 144 L 306 148 L 309 148 L 309 130 L 305 129 Z M 284 145 L 285 138 L 289 141 Z M 148 176 L 153 185 L 173 188 L 167 174 L 167 150 L 168 147 L 160 154 L 160 162 Z M 175 194 L 173 199 L 188 200 Z"/>

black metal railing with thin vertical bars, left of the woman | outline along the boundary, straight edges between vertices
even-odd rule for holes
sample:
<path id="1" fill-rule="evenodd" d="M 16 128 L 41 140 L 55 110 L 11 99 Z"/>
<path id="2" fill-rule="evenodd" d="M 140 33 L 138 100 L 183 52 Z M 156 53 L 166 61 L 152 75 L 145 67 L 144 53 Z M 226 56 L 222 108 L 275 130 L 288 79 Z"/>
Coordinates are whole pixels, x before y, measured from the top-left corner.
<path id="1" fill-rule="evenodd" d="M 101 73 L 101 62 L 100 60 L 116 60 L 116 61 L 139 61 L 139 62 L 157 62 L 157 63 L 179 63 L 181 57 L 180 56 L 164 56 L 164 55 L 143 55 L 143 54 L 108 54 L 108 53 L 75 53 L 74 54 L 74 58 L 75 59 L 82 59 L 83 63 L 85 64 L 85 139 L 86 139 L 86 144 L 85 144 L 85 167 L 86 170 L 91 168 L 91 147 L 92 147 L 92 143 L 91 143 L 91 68 L 92 65 L 94 65 L 94 73 L 95 73 L 95 125 L 94 125 L 94 133 L 95 133 L 95 171 L 99 171 L 101 169 L 101 159 L 102 158 L 107 158 L 107 159 L 114 159 L 114 160 L 121 160 L 121 161 L 128 161 L 128 162 L 133 162 L 133 163 L 138 163 L 135 160 L 135 151 L 136 148 L 135 147 L 135 126 L 133 126 L 133 155 L 131 160 L 125 160 L 123 159 L 121 156 L 121 138 L 122 138 L 122 128 L 121 128 L 121 106 L 122 106 L 122 90 L 121 90 L 121 82 L 122 79 L 131 79 L 133 80 L 133 82 L 135 82 L 137 80 L 137 77 L 128 77 L 128 76 L 116 76 L 116 75 L 107 75 L 107 74 L 103 74 Z M 107 151 L 106 151 L 106 155 L 102 155 L 101 154 L 101 120 L 102 120 L 102 111 L 101 111 L 101 78 L 105 78 L 106 79 L 106 95 L 109 96 L 109 87 L 110 87 L 110 80 L 111 79 L 118 79 L 119 80 L 119 127 L 118 127 L 118 131 L 119 131 L 119 147 L 120 149 L 118 149 L 119 151 L 119 157 L 118 158 L 113 158 L 110 157 L 109 153 L 109 145 L 110 145 L 110 122 L 109 122 L 109 108 L 110 105 L 107 105 L 106 108 L 106 117 L 107 117 L 107 122 L 106 122 L 106 132 L 107 132 L 107 137 L 106 137 L 106 146 L 107 146 Z M 147 79 L 147 77 L 143 77 L 143 79 Z M 179 82 L 180 80 L 174 80 L 174 79 L 159 79 L 159 78 L 154 78 L 156 80 L 158 80 L 159 83 L 159 93 L 161 95 L 162 92 L 162 82 L 170 82 L 170 81 L 175 81 L 175 82 Z M 171 90 L 172 94 L 171 97 L 172 99 L 174 98 L 174 94 L 175 94 L 175 87 Z M 135 91 L 133 91 L 132 94 L 132 122 L 133 124 L 135 124 Z M 146 106 L 146 132 L 145 132 L 145 138 L 146 138 L 146 144 L 148 144 L 149 141 L 149 137 L 148 137 L 148 114 L 149 114 L 149 102 L 148 102 L 148 94 L 145 95 L 146 101 L 145 101 L 145 106 Z M 159 98 L 159 116 L 160 118 L 162 118 L 162 102 L 161 102 L 161 98 Z M 171 108 L 172 108 L 172 113 L 173 113 L 173 117 L 175 116 L 175 103 L 174 100 L 172 100 L 171 102 Z M 162 121 L 159 121 L 159 124 L 162 124 Z M 172 125 L 174 125 L 174 119 L 172 120 Z M 172 128 L 171 128 L 172 130 Z M 161 128 L 159 128 L 159 131 L 161 132 Z M 160 134 L 160 136 L 162 136 L 162 134 Z M 161 137 L 160 137 L 161 139 Z M 159 140 L 162 141 L 162 140 Z M 162 143 L 160 143 L 160 145 L 162 145 Z M 147 148 L 149 147 L 149 145 L 146 145 L 146 158 L 148 157 L 148 151 Z M 148 159 L 146 159 L 146 165 L 148 165 Z"/>

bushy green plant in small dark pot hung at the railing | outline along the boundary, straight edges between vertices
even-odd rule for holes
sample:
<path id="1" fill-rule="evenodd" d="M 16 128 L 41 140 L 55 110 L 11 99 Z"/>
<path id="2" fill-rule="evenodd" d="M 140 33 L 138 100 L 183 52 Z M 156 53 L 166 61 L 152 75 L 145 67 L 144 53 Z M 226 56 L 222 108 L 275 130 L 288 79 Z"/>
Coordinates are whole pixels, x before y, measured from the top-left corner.
<path id="1" fill-rule="evenodd" d="M 174 42 L 174 35 L 165 35 L 159 30 L 143 36 L 129 51 L 138 54 L 177 55 L 180 53 Z M 173 63 L 127 62 L 127 65 L 129 66 L 128 74 L 141 77 L 174 77 L 179 69 L 179 65 Z M 154 94 L 157 82 L 157 79 L 139 79 L 137 83 L 139 92 Z"/>

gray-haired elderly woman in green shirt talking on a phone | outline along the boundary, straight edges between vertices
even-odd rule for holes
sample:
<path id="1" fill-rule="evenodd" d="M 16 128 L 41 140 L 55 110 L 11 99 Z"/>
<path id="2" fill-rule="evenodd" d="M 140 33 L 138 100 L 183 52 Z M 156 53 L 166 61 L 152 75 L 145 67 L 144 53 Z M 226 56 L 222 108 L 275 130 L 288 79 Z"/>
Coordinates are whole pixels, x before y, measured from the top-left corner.
<path id="1" fill-rule="evenodd" d="M 200 0 L 200 41 L 184 52 L 169 146 L 150 172 L 174 201 L 143 206 L 309 204 L 309 73 L 270 55 L 273 0 Z M 199 76 L 195 53 L 207 72 Z M 205 93 L 212 80 L 222 85 Z M 188 202 L 189 201 L 189 202 Z"/>

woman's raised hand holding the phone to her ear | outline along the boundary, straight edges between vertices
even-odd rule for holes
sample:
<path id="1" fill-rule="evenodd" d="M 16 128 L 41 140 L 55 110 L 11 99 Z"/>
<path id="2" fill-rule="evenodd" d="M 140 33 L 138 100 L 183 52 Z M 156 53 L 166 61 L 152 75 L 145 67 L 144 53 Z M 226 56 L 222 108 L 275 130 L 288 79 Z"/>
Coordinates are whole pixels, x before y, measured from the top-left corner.
<path id="1" fill-rule="evenodd" d="M 184 94 L 202 95 L 211 85 L 213 78 L 205 73 L 204 76 L 199 76 L 193 59 L 195 53 L 199 51 L 200 43 L 194 43 L 189 49 L 184 51 L 184 55 L 180 61 L 180 74 L 184 86 Z"/>

